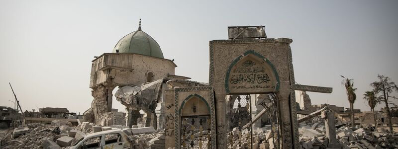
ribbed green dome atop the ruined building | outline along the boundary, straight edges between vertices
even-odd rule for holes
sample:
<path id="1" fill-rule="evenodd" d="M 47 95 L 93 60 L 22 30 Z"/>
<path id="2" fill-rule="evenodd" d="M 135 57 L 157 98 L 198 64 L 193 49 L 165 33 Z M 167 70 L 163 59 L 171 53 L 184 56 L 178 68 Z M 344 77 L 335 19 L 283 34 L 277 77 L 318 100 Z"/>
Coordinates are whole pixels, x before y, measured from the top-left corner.
<path id="1" fill-rule="evenodd" d="M 121 38 L 113 48 L 113 53 L 116 53 L 116 50 L 119 50 L 119 53 L 136 53 L 163 59 L 163 53 L 159 44 L 155 39 L 142 31 L 141 26 L 137 31 Z"/>

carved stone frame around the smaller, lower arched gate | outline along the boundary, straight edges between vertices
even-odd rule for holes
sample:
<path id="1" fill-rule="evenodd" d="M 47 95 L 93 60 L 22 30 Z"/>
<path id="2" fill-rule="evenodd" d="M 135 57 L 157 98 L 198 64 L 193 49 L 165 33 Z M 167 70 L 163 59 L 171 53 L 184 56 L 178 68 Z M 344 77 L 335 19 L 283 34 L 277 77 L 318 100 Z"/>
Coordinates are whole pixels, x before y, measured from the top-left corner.
<path id="1" fill-rule="evenodd" d="M 207 91 L 208 92 L 208 101 L 202 97 L 199 92 Z M 180 93 L 181 92 L 189 92 L 190 95 L 184 98 L 184 100 L 180 103 Z M 201 99 L 207 106 L 207 110 L 210 112 L 210 133 L 211 133 L 211 149 L 217 149 L 216 143 L 216 120 L 215 120 L 215 104 L 214 104 L 214 90 L 211 86 L 197 86 L 197 87 L 181 87 L 175 88 L 175 113 L 174 113 L 174 134 L 175 134 L 175 149 L 181 149 L 181 110 L 184 107 L 184 104 L 191 99 L 192 97 L 198 97 Z"/>

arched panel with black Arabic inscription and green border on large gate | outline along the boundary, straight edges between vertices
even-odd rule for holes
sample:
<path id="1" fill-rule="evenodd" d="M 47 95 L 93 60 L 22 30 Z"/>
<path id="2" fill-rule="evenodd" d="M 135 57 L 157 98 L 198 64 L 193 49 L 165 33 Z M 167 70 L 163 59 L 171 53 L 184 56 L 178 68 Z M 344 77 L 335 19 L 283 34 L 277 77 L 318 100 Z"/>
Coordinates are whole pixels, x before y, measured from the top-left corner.
<path id="1" fill-rule="evenodd" d="M 275 67 L 264 56 L 246 51 L 229 66 L 225 78 L 227 94 L 271 93 L 279 89 Z"/>

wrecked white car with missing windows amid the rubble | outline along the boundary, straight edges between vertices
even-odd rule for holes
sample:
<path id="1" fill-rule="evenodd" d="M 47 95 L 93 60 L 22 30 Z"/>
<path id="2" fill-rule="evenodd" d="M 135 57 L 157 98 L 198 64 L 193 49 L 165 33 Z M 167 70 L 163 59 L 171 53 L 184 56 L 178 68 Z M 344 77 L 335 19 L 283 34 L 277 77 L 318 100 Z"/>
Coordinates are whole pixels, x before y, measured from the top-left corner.
<path id="1" fill-rule="evenodd" d="M 132 149 L 132 141 L 121 130 L 89 134 L 67 149 Z"/>

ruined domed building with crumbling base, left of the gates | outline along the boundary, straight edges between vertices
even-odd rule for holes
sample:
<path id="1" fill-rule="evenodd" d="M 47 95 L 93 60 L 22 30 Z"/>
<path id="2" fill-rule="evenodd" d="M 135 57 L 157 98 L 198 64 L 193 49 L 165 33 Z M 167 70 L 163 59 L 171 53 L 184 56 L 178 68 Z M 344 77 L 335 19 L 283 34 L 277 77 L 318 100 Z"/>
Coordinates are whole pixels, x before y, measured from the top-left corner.
<path id="1" fill-rule="evenodd" d="M 140 110 L 144 125 L 162 128 L 163 92 L 173 87 L 200 86 L 189 77 L 175 75 L 176 64 L 163 57 L 159 44 L 141 29 L 121 38 L 112 53 L 92 61 L 90 87 L 94 100 L 84 113 L 84 121 L 102 126 L 137 125 Z M 126 107 L 126 116 L 111 111 L 112 90 Z"/>

